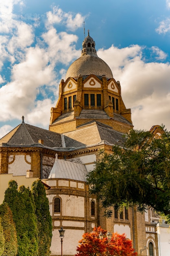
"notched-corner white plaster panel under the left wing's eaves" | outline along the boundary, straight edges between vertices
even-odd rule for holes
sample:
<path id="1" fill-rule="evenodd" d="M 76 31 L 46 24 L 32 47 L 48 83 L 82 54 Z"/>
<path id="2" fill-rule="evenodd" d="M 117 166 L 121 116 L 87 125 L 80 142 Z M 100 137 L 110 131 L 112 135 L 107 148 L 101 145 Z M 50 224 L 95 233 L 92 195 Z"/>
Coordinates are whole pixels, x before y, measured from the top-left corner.
<path id="1" fill-rule="evenodd" d="M 13 159 L 13 156 L 10 158 Z M 8 165 L 8 173 L 13 173 L 13 176 L 26 175 L 26 171 L 31 170 L 31 156 L 27 155 L 26 160 L 30 164 L 25 161 L 25 155 L 15 155 L 15 161 Z"/>

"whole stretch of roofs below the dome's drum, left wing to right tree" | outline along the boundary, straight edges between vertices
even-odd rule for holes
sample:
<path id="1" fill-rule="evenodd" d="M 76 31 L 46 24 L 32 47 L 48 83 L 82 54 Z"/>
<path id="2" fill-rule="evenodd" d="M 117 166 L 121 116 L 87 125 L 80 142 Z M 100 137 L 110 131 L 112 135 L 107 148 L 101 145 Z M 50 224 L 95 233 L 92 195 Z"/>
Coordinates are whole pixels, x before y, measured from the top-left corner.
<path id="1" fill-rule="evenodd" d="M 38 142 L 40 139 L 43 140 L 43 145 Z M 65 132 L 63 135 L 25 124 L 23 121 L 0 139 L 0 146 L 37 146 L 38 144 L 57 150 L 60 148 L 68 150 L 68 148 L 83 148 L 101 144 L 102 141 L 105 141 L 106 144 L 123 146 L 125 139 L 123 133 L 94 120 L 78 126 L 72 132 Z"/>

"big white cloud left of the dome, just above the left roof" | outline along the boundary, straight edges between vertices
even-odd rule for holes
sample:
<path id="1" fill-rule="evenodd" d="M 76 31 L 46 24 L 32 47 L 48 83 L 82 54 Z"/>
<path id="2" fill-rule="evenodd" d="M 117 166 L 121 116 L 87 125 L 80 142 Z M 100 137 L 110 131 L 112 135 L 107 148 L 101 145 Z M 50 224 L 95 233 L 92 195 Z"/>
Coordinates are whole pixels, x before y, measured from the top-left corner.
<path id="1" fill-rule="evenodd" d="M 30 47 L 25 61 L 13 66 L 12 81 L 0 88 L 0 109 L 3 109 L 0 120 L 20 119 L 22 115 L 32 112 L 39 88 L 50 86 L 54 79 L 54 70 L 48 64 L 46 51 Z"/>

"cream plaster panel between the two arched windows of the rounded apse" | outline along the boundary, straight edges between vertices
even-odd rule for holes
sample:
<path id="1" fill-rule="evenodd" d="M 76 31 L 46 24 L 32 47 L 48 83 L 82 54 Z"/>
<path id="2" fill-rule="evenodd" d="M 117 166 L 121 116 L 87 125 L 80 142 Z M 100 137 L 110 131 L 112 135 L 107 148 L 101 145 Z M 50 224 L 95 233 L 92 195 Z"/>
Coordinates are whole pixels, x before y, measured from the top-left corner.
<path id="1" fill-rule="evenodd" d="M 59 195 L 62 198 L 62 215 L 85 217 L 84 198 L 75 195 Z"/>

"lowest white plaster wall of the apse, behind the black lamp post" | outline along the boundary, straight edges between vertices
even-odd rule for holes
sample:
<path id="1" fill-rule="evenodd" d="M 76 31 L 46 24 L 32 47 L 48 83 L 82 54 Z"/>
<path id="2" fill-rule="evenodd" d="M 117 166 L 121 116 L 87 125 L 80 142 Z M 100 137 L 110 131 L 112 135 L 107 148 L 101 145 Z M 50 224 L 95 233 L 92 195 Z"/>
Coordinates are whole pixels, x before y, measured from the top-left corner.
<path id="1" fill-rule="evenodd" d="M 63 255 L 76 254 L 78 241 L 81 240 L 84 233 L 84 230 L 65 229 L 63 238 Z M 50 250 L 50 255 L 61 255 L 61 239 L 59 238 L 58 229 L 54 229 L 52 231 L 52 243 Z"/>

